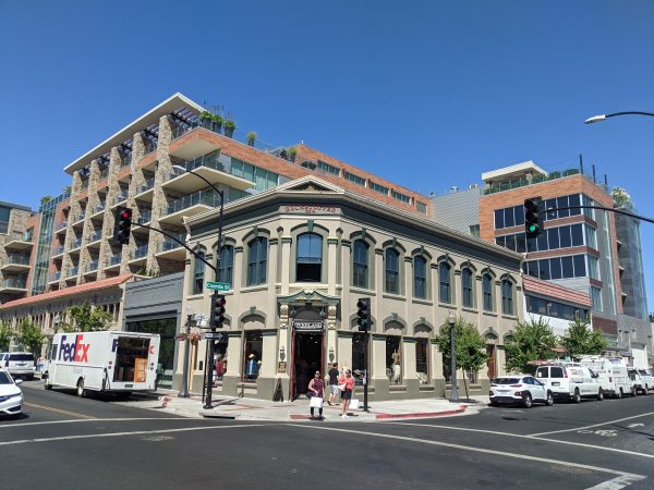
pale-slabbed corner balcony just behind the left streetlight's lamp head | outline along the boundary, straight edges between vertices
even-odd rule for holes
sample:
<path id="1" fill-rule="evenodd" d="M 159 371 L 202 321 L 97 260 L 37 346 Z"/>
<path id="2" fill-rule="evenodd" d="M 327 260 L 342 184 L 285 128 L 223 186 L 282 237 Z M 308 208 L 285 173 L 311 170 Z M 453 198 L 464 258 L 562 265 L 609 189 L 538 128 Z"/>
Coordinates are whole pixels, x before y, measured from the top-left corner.
<path id="1" fill-rule="evenodd" d="M 197 175 L 202 175 L 214 185 L 226 184 L 239 191 L 245 191 L 255 186 L 254 182 L 229 173 L 229 170 L 218 160 L 218 152 L 185 161 L 181 163 L 181 167 L 192 170 Z M 173 169 L 169 176 L 170 180 L 165 182 L 161 187 L 181 194 L 191 194 L 207 186 L 206 182 L 197 175 Z"/>

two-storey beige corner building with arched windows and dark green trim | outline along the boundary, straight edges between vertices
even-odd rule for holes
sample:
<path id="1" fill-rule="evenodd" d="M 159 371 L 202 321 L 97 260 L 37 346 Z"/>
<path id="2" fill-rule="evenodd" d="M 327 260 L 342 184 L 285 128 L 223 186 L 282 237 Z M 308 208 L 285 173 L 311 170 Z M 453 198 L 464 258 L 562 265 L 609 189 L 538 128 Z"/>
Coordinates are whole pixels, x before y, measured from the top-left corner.
<path id="1" fill-rule="evenodd" d="M 217 210 L 186 225 L 190 246 L 220 261 L 214 278 L 186 259 L 184 310 L 209 310 L 206 281 L 231 287 L 227 342 L 214 359 L 227 356 L 219 393 L 294 399 L 332 362 L 360 375 L 359 297 L 372 304 L 372 400 L 446 395 L 443 356 L 431 338 L 450 311 L 487 341 L 491 362 L 472 381 L 485 389 L 488 376 L 504 372 L 505 338 L 523 306 L 514 252 L 313 175 L 226 205 L 220 244 Z M 193 391 L 203 387 L 203 344 L 192 344 Z M 182 371 L 178 356 L 177 385 Z"/>

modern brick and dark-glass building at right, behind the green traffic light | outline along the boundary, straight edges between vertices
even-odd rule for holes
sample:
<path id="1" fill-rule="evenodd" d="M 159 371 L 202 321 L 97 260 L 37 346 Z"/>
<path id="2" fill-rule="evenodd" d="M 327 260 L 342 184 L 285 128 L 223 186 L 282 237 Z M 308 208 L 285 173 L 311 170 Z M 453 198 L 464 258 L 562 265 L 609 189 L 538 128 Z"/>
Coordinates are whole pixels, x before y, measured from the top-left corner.
<path id="1" fill-rule="evenodd" d="M 640 241 L 630 236 L 629 265 L 620 261 L 627 253 L 622 243 L 617 215 L 598 209 L 561 209 L 545 215 L 545 230 L 538 238 L 526 240 L 524 234 L 525 198 L 541 197 L 548 209 L 574 206 L 614 207 L 606 186 L 583 174 L 583 169 L 546 172 L 532 161 L 485 172 L 483 188 L 467 193 L 469 201 L 479 204 L 479 221 L 469 222 L 461 216 L 459 193 L 434 198 L 435 215 L 449 213 L 450 222 L 465 231 L 479 225 L 480 236 L 511 250 L 524 254 L 523 273 L 559 286 L 585 293 L 591 298 L 593 327 L 601 329 L 611 347 L 639 365 L 647 360 L 645 321 L 626 311 L 629 293 L 622 278 L 642 275 Z M 459 221 L 459 218 L 461 220 Z M 627 218 L 633 221 L 631 218 Z M 458 224 L 457 224 L 458 223 Z M 633 228 L 631 228 L 633 231 Z M 644 281 L 634 281 L 632 294 L 642 304 Z"/>

